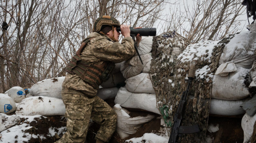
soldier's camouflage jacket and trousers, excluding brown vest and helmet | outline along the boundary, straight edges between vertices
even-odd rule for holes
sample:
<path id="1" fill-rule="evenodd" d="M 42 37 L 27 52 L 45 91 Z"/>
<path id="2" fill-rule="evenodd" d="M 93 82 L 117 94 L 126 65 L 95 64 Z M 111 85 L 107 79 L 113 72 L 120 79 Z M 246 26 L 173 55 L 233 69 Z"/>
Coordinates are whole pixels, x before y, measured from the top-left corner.
<path id="1" fill-rule="evenodd" d="M 131 37 L 123 38 L 121 44 L 97 32 L 91 33 L 86 39 L 90 38 L 92 39 L 81 52 L 81 58 L 89 63 L 119 63 L 135 54 Z M 66 75 L 62 84 L 62 99 L 66 107 L 67 132 L 56 143 L 84 143 L 90 118 L 101 125 L 95 138 L 109 142 L 116 128 L 117 115 L 96 94 L 97 89 L 85 83 L 79 76 Z"/>

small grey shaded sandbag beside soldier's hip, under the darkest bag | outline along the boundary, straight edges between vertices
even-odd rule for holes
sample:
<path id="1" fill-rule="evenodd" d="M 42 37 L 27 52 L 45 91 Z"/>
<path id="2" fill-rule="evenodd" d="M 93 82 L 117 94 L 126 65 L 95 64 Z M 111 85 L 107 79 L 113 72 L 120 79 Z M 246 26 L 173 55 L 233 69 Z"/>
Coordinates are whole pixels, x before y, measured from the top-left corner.
<path id="1" fill-rule="evenodd" d="M 115 98 L 119 88 L 110 87 L 110 88 L 100 88 L 98 89 L 97 96 L 103 100 Z"/>

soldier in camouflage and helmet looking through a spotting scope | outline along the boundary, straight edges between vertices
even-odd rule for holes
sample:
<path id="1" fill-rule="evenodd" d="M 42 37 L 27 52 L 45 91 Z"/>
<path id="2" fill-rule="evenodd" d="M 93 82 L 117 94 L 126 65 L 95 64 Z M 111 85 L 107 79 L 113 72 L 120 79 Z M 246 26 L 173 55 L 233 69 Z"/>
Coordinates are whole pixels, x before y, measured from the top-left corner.
<path id="1" fill-rule="evenodd" d="M 121 44 L 117 27 L 124 36 Z M 84 143 L 90 118 L 101 125 L 95 136 L 96 143 L 109 142 L 116 128 L 117 115 L 96 94 L 102 81 L 109 78 L 115 63 L 128 60 L 136 53 L 129 27 L 104 15 L 95 21 L 93 33 L 82 40 L 67 66 L 68 74 L 62 84 L 67 132 L 56 143 Z M 138 34 L 136 41 L 140 40 Z"/>

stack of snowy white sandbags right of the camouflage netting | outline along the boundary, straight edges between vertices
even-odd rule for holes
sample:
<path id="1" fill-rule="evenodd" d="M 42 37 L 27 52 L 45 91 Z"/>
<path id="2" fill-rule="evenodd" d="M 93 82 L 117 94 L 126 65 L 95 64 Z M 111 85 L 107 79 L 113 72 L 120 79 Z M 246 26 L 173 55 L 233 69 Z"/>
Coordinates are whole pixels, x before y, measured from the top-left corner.
<path id="1" fill-rule="evenodd" d="M 255 60 L 256 33 L 241 32 L 235 34 L 228 44 L 225 45 L 213 77 L 211 97 L 218 99 L 216 108 L 211 114 L 239 115 L 245 113 L 241 104 L 251 95 L 255 78 L 253 63 Z"/>

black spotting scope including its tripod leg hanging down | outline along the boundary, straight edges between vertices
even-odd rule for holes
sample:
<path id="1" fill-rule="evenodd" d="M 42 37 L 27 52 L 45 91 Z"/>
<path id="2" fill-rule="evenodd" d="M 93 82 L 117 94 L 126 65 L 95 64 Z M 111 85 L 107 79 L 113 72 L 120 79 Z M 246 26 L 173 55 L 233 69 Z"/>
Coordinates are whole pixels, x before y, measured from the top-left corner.
<path id="1" fill-rule="evenodd" d="M 117 28 L 117 31 L 121 31 L 121 28 Z M 140 36 L 156 36 L 156 28 L 137 28 L 137 29 L 134 29 L 132 27 L 130 27 L 130 35 L 134 41 L 134 48 L 139 56 L 139 60 L 141 61 L 141 64 L 143 64 L 141 58 L 140 58 L 140 55 L 139 55 L 139 52 L 137 50 L 137 42 L 135 42 L 135 36 L 137 34 L 139 34 Z"/>

